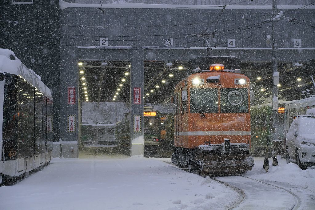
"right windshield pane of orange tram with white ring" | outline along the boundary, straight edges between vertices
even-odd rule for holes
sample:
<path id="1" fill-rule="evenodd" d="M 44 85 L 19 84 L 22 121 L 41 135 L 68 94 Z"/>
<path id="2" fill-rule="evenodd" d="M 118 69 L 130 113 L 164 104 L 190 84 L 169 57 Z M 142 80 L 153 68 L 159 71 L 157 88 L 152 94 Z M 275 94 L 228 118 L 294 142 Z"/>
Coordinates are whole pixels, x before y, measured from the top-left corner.
<path id="1" fill-rule="evenodd" d="M 221 113 L 248 113 L 247 88 L 221 88 Z"/>

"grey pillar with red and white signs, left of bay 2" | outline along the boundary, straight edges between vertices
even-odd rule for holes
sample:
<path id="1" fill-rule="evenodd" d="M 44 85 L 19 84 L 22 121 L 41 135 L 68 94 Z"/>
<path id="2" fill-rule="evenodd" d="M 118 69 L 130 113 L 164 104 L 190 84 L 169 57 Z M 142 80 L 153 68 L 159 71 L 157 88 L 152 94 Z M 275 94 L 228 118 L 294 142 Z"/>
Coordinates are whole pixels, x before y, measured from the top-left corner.
<path id="1" fill-rule="evenodd" d="M 81 78 L 80 78 L 81 79 Z M 74 104 L 68 103 L 68 87 L 75 88 Z M 60 51 L 60 150 L 65 158 L 78 157 L 78 60 L 76 49 Z M 75 129 L 68 129 L 69 116 L 74 116 Z"/>

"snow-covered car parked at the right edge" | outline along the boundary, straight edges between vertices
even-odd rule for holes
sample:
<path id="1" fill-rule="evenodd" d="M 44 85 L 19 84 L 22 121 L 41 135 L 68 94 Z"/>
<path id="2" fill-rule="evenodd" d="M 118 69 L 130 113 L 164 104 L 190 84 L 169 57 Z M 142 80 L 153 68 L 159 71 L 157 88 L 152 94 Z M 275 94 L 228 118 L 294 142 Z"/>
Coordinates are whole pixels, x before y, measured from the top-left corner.
<path id="1" fill-rule="evenodd" d="M 315 108 L 293 120 L 286 136 L 287 163 L 295 162 L 301 169 L 315 166 Z"/>

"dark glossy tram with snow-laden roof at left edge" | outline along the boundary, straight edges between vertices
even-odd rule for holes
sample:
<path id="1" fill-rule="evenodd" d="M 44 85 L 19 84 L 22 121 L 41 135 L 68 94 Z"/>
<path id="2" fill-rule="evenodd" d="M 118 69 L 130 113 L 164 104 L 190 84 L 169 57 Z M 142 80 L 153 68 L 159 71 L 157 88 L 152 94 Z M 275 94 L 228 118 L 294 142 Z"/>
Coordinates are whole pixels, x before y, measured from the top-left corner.
<path id="1" fill-rule="evenodd" d="M 53 158 L 52 95 L 41 78 L 0 49 L 0 184 Z"/>

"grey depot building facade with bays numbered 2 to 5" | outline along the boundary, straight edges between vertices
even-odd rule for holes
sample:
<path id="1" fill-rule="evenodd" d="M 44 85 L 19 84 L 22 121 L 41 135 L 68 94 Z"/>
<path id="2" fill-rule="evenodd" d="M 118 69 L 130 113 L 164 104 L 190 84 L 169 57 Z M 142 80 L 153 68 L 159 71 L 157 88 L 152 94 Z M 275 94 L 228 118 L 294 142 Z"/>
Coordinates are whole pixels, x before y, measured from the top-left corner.
<path id="1" fill-rule="evenodd" d="M 0 48 L 12 50 L 51 89 L 54 141 L 61 143 L 64 157 L 78 156 L 82 102 L 112 102 L 125 71 L 129 72 L 130 85 L 123 84 L 122 96 L 117 99 L 120 102 L 129 102 L 134 88 L 140 88 L 143 99 L 151 89 L 147 71 L 163 72 L 166 63 L 180 71 L 179 65 L 185 68 L 197 56 L 236 56 L 242 61 L 242 73 L 252 80 L 259 73 L 272 75 L 272 21 L 268 20 L 272 6 L 266 6 L 272 5 L 272 0 L 226 7 L 223 5 L 230 1 L 182 0 L 168 1 L 168 5 L 154 4 L 163 1 L 143 4 L 149 2 L 146 0 L 102 4 L 98 0 L 2 2 Z M 291 1 L 278 0 L 281 17 L 273 29 L 280 75 L 293 75 L 296 63 L 315 58 L 315 30 L 311 23 L 315 21 L 315 6 L 298 9 L 306 2 L 300 0 L 292 5 Z M 185 76 L 176 72 L 174 75 Z M 84 77 L 87 90 L 82 85 Z M 105 82 L 98 88 L 100 77 Z M 256 85 L 260 90 L 260 84 Z M 140 104 L 131 103 L 130 116 L 143 116 L 146 102 L 164 102 L 173 87 L 169 84 L 167 94 L 156 97 L 161 101 L 144 98 Z M 299 94 L 290 91 L 289 85 L 283 89 L 287 100 L 298 99 Z M 259 94 L 256 93 L 262 97 Z M 70 95 L 73 96 L 69 98 Z M 74 121 L 72 129 L 69 119 Z M 141 135 L 131 130 L 132 139 Z"/>

